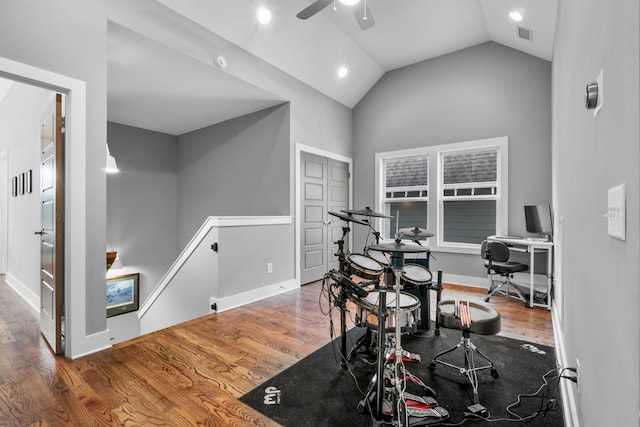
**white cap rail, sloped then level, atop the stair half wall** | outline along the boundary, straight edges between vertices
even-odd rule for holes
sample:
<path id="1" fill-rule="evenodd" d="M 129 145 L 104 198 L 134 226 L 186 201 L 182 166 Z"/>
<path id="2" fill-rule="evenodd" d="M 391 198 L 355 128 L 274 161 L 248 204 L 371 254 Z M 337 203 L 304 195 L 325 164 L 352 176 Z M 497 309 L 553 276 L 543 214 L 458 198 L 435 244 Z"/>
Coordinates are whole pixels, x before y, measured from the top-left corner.
<path id="1" fill-rule="evenodd" d="M 195 235 L 191 238 L 189 243 L 182 250 L 178 258 L 171 264 L 169 270 L 162 276 L 162 279 L 153 288 L 149 296 L 144 300 L 144 303 L 138 310 L 138 319 L 142 319 L 144 315 L 153 306 L 154 302 L 160 297 L 162 292 L 169 286 L 169 283 L 178 274 L 180 269 L 189 260 L 191 255 L 198 248 L 202 240 L 209 234 L 209 231 L 213 227 L 240 227 L 240 226 L 255 226 L 255 225 L 275 225 L 275 224 L 291 224 L 291 217 L 281 216 L 228 216 L 217 217 L 210 216 L 200 226 Z"/>

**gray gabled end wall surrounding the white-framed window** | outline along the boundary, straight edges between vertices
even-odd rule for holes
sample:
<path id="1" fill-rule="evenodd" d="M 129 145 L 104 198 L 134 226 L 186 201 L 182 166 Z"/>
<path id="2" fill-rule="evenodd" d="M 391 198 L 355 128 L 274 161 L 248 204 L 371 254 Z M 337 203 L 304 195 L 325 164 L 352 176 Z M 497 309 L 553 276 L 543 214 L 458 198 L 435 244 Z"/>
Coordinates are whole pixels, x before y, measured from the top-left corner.
<path id="1" fill-rule="evenodd" d="M 551 203 L 550 106 L 551 64 L 493 42 L 385 74 L 354 110 L 354 206 L 374 206 L 376 152 L 507 136 L 509 233 L 525 235 L 523 205 Z M 479 255 L 435 256 L 486 276 Z"/>

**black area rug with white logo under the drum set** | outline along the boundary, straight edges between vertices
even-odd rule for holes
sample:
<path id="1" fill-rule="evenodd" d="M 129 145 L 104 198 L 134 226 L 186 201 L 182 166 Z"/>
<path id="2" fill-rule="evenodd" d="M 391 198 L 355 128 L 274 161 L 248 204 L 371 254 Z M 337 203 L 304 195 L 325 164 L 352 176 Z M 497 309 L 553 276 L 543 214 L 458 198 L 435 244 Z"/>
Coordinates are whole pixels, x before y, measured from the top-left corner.
<path id="1" fill-rule="evenodd" d="M 350 343 L 362 329 L 349 331 Z M 440 351 L 456 345 L 461 332 L 441 329 L 440 336 L 432 331 L 416 336 L 403 336 L 403 349 L 419 354 L 419 363 L 405 363 L 406 369 L 436 392 L 441 407 L 449 412 L 442 424 L 458 425 L 465 419 L 467 407 L 473 404 L 471 386 L 466 377 L 453 368 L 438 364 L 430 369 L 431 359 Z M 489 370 L 478 372 L 480 404 L 490 413 L 490 419 L 514 418 L 506 408 L 518 400 L 518 394 L 535 393 L 544 384 L 542 376 L 555 368 L 553 348 L 500 336 L 472 335 L 471 342 L 489 356 L 498 370 L 493 378 Z M 284 426 L 371 426 L 372 417 L 356 407 L 362 400 L 371 377 L 376 372 L 375 356 L 361 354 L 353 357 L 348 370 L 338 363 L 340 340 L 335 340 L 309 355 L 289 369 L 256 387 L 240 400 Z M 463 365 L 463 350 L 446 356 L 455 365 Z M 482 362 L 476 358 L 476 363 Z M 544 399 L 523 398 L 512 412 L 527 417 L 542 408 L 528 426 L 563 426 L 558 380 L 554 371 L 547 375 L 548 386 L 543 388 Z M 357 381 L 357 384 L 356 384 Z M 362 390 L 362 391 L 361 391 Z M 555 399 L 549 401 L 549 399 Z M 375 407 L 375 401 L 372 405 Z M 518 425 L 521 422 L 467 420 L 463 425 Z"/>

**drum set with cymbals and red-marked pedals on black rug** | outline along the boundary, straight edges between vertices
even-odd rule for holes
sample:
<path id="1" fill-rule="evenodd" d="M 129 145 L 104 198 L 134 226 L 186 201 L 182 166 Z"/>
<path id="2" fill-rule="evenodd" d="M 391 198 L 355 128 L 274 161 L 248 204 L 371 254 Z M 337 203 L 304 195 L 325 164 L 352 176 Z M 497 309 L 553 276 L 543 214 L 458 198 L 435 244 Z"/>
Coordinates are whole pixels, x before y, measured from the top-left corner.
<path id="1" fill-rule="evenodd" d="M 362 210 L 343 210 L 329 212 L 330 215 L 349 223 L 365 225 L 372 230 L 376 244 L 365 248 L 365 254 L 345 254 L 344 239 L 350 231 L 343 227 L 343 235 L 338 240 L 339 271 L 331 270 L 328 275 L 340 289 L 335 305 L 340 308 L 340 333 L 342 364 L 346 364 L 352 354 L 362 346 L 371 345 L 371 337 L 377 336 L 376 373 L 371 378 L 364 398 L 358 403 L 357 410 L 364 413 L 368 408 L 374 417 L 375 425 L 421 426 L 441 422 L 449 417 L 446 409 L 435 400 L 435 392 L 419 378 L 405 368 L 405 363 L 420 362 L 420 356 L 402 349 L 403 333 L 415 333 L 421 319 L 420 300 L 403 289 L 416 289 L 431 285 L 432 275 L 429 269 L 420 264 L 405 264 L 405 254 L 427 253 L 427 247 L 420 240 L 434 234 L 420 228 L 405 228 L 396 231 L 391 243 L 380 243 L 380 233 L 371 226 L 371 218 L 391 218 L 377 213 L 368 207 Z M 362 220 L 353 215 L 365 216 Z M 415 244 L 405 243 L 408 239 Z M 352 276 L 363 281 L 356 283 Z M 438 286 L 441 275 L 439 273 Z M 438 290 L 440 295 L 441 288 Z M 428 296 L 427 296 L 428 298 Z M 356 324 L 365 326 L 367 331 L 347 353 L 346 312 L 347 301 L 358 307 Z M 411 393 L 407 388 L 411 385 Z M 417 391 L 414 391 L 416 389 Z M 372 404 L 375 406 L 372 407 Z"/>

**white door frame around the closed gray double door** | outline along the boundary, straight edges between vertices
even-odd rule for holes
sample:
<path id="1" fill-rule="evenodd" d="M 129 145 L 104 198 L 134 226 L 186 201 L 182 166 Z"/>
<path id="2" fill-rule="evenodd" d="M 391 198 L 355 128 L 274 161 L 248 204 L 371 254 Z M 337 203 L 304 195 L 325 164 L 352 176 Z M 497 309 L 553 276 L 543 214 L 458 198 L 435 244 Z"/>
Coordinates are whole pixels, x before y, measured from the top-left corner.
<path id="1" fill-rule="evenodd" d="M 321 156 L 321 157 L 327 157 L 329 159 L 332 160 L 337 160 L 339 162 L 343 162 L 343 163 L 347 163 L 348 165 L 348 169 L 349 169 L 349 209 L 351 209 L 353 207 L 353 159 L 350 157 L 345 157 L 342 156 L 340 154 L 336 154 L 336 153 L 332 153 L 330 151 L 325 151 L 319 148 L 315 148 L 315 147 L 310 147 L 307 145 L 303 145 L 303 144 L 298 144 L 296 143 L 296 155 L 295 155 L 295 222 L 296 222 L 296 226 L 295 226 L 295 236 L 294 236 L 294 240 L 295 240 L 295 265 L 296 265 L 296 276 L 295 276 L 295 280 L 297 282 L 297 285 L 300 286 L 300 277 L 301 277 L 301 268 L 300 268 L 300 260 L 301 260 L 301 253 L 300 251 L 302 250 L 301 245 L 300 245 L 300 216 L 301 216 L 301 212 L 300 212 L 300 200 L 302 197 L 302 190 L 300 188 L 300 183 L 301 183 L 301 176 L 300 176 L 300 172 L 301 172 L 301 167 L 300 167 L 300 161 L 302 158 L 302 153 L 309 153 L 309 154 L 314 154 L 316 156 Z M 349 251 L 351 251 L 353 248 L 353 239 L 349 239 Z M 329 254 L 330 256 L 330 254 Z"/>

